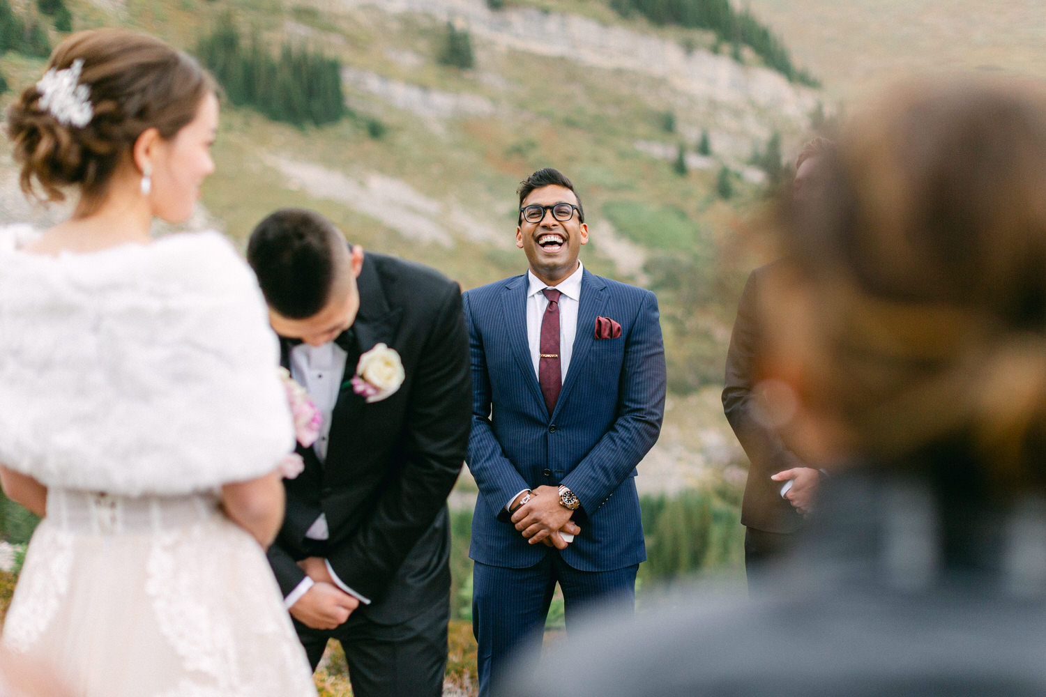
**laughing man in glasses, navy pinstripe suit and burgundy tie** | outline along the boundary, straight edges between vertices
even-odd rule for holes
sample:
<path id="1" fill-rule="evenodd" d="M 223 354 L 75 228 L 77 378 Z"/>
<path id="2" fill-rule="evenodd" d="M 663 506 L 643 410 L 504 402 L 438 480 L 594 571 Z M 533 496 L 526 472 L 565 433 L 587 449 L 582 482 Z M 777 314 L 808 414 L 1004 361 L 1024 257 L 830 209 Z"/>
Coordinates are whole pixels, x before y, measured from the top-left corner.
<path id="1" fill-rule="evenodd" d="M 636 465 L 657 441 L 665 366 L 657 298 L 585 270 L 573 185 L 522 182 L 516 246 L 529 270 L 467 292 L 473 374 L 469 468 L 480 695 L 541 638 L 555 584 L 568 631 L 593 601 L 635 603 L 646 558 Z"/>

